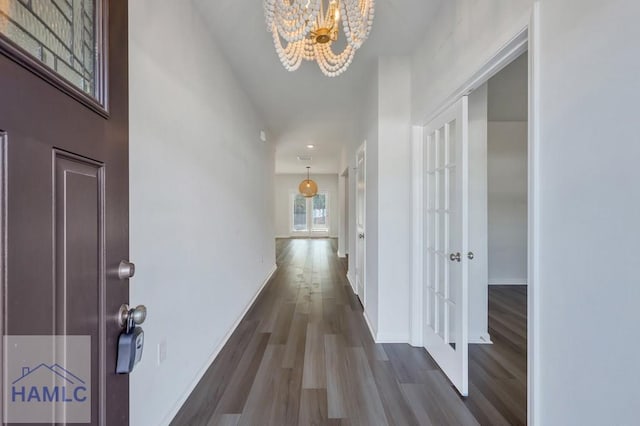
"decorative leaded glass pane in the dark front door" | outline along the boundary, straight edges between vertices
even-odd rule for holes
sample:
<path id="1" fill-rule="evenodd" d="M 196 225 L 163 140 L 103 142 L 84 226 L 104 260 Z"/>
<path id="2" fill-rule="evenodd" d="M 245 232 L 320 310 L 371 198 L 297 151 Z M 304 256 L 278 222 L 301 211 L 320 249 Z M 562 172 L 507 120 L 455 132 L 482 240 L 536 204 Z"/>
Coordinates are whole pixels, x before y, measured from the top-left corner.
<path id="1" fill-rule="evenodd" d="M 0 33 L 97 99 L 98 0 L 0 0 Z"/>

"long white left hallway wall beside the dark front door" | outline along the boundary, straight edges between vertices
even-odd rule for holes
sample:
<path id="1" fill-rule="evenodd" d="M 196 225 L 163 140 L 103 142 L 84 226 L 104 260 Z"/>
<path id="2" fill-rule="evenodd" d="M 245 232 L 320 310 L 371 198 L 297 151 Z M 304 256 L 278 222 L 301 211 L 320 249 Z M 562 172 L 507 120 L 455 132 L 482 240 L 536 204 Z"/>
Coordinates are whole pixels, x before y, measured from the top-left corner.
<path id="1" fill-rule="evenodd" d="M 192 3 L 137 0 L 129 11 L 131 303 L 149 310 L 130 423 L 155 426 L 274 267 L 274 156 Z"/>

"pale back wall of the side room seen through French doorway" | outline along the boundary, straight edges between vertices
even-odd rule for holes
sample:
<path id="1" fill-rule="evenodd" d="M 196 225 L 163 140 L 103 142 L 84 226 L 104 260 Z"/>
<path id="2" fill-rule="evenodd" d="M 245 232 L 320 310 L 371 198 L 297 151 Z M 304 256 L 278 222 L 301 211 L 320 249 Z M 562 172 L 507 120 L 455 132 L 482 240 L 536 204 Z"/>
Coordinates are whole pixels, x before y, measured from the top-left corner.
<path id="1" fill-rule="evenodd" d="M 489 284 L 527 284 L 527 135 L 524 121 L 488 130 Z"/>

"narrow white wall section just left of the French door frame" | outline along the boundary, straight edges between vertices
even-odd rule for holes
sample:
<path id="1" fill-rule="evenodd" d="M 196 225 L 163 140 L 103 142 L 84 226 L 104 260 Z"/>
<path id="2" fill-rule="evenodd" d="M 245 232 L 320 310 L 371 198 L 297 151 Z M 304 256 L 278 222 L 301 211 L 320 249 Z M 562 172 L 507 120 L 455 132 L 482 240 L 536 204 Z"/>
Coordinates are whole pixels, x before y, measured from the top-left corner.
<path id="1" fill-rule="evenodd" d="M 378 72 L 377 337 L 380 341 L 408 342 L 412 237 L 410 59 L 381 57 Z"/>

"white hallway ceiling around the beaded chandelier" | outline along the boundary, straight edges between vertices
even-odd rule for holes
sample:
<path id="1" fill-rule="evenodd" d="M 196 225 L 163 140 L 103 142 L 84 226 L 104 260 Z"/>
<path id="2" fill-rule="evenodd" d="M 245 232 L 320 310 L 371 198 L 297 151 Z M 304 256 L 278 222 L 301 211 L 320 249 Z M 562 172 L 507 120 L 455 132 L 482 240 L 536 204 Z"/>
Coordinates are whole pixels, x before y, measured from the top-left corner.
<path id="1" fill-rule="evenodd" d="M 442 0 L 378 0 L 369 39 L 335 78 L 325 77 L 312 62 L 295 72 L 284 69 L 266 30 L 261 0 L 193 1 L 266 122 L 268 138 L 276 144 L 276 173 L 305 172 L 307 163 L 298 155 L 313 157 L 312 172 L 338 173 L 340 149 L 355 135 L 375 58 L 410 54 Z M 310 143 L 315 150 L 307 150 Z"/>

